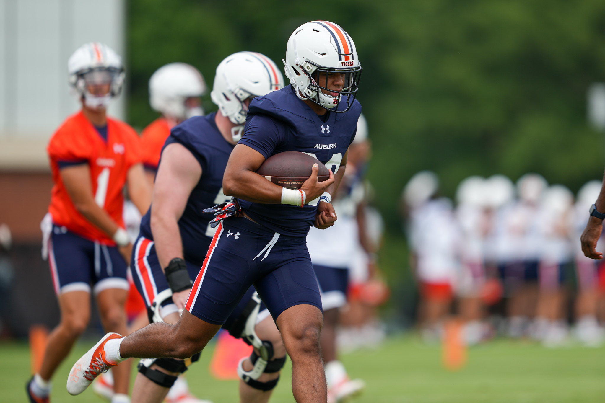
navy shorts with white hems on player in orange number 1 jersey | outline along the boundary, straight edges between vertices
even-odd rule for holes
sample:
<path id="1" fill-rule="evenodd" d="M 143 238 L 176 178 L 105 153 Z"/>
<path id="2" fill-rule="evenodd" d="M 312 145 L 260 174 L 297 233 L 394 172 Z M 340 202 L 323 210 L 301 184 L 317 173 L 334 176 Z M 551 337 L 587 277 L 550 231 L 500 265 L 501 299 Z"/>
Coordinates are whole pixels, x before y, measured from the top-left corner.
<path id="1" fill-rule="evenodd" d="M 85 239 L 67 228 L 54 225 L 48 240 L 48 262 L 54 291 L 99 292 L 118 288 L 128 291 L 126 262 L 117 247 Z"/>

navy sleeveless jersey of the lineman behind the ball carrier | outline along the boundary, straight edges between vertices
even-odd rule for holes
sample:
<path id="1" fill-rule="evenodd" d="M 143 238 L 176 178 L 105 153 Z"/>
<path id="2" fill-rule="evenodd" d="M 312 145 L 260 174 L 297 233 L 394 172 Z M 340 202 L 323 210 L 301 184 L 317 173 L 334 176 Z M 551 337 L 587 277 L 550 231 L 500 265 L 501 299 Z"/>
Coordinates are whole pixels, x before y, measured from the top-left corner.
<path id="1" fill-rule="evenodd" d="M 172 143 L 182 144 L 200 163 L 200 181 L 189 195 L 183 216 L 178 220 L 183 240 L 183 257 L 199 266 L 204 262 L 209 242 L 216 230 L 208 224 L 214 215 L 202 210 L 231 201 L 231 198 L 223 195 L 223 174 L 234 146 L 218 131 L 214 116 L 215 113 L 189 118 L 172 128 L 164 144 L 164 147 Z M 151 208 L 141 221 L 141 234 L 152 240 Z"/>

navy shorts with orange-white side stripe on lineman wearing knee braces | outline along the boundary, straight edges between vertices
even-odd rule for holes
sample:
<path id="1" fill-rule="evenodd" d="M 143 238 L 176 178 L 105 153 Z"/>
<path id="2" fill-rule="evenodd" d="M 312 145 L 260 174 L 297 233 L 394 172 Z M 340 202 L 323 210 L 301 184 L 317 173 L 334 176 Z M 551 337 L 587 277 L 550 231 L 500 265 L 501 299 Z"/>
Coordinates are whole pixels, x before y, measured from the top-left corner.
<path id="1" fill-rule="evenodd" d="M 200 248 L 208 250 L 211 240 L 212 238 L 208 238 L 208 243 L 206 245 L 200 245 Z M 191 277 L 191 280 L 195 280 L 195 277 L 197 277 L 198 273 L 200 272 L 200 265 L 196 265 L 188 261 L 185 263 L 187 263 L 189 277 Z M 130 265 L 133 270 L 132 279 L 134 280 L 134 285 L 137 286 L 139 294 L 141 294 L 143 301 L 145 301 L 145 305 L 149 308 L 149 306 L 151 306 L 153 303 L 155 296 L 169 288 L 168 281 L 166 281 L 166 276 L 157 258 L 157 253 L 155 253 L 154 241 L 139 235 L 137 241 L 134 243 L 134 250 L 132 251 Z M 248 289 L 244 297 L 241 298 L 240 303 L 235 308 L 232 317 L 229 318 L 231 322 L 235 321 L 244 308 L 246 308 L 246 305 L 250 298 L 252 298 L 254 291 L 254 287 L 250 286 L 250 289 Z M 263 309 L 265 309 L 264 305 L 261 304 L 258 315 L 261 320 L 267 317 L 267 313 L 263 313 Z M 168 298 L 162 302 L 162 308 L 160 308 L 160 315 L 162 315 L 162 317 L 166 317 L 166 315 L 177 311 L 177 306 L 174 305 L 172 298 Z M 227 320 L 227 322 L 229 322 L 229 320 Z"/>

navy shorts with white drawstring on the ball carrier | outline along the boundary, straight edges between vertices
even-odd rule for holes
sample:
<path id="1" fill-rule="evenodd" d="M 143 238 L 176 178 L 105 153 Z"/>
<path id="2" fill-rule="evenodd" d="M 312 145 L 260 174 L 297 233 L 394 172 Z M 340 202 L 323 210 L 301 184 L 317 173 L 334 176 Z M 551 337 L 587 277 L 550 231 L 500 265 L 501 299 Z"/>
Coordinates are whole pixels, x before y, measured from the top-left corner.
<path id="1" fill-rule="evenodd" d="M 223 324 L 254 285 L 273 320 L 295 305 L 321 310 L 321 296 L 306 237 L 274 233 L 247 218 L 221 222 L 185 308 Z"/>

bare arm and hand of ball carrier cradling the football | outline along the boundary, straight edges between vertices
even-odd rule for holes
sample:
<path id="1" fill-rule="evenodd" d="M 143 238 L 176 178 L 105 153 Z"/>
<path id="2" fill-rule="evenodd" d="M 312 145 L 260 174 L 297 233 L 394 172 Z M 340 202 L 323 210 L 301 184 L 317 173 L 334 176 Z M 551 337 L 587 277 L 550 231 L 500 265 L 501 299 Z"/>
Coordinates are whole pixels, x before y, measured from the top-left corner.
<path id="1" fill-rule="evenodd" d="M 264 160 L 264 156 L 252 147 L 237 144 L 229 156 L 225 169 L 223 193 L 226 196 L 235 196 L 255 203 L 281 204 L 284 188 L 267 181 L 264 176 L 256 173 Z M 318 166 L 313 166 L 311 176 L 302 184 L 301 189 L 304 190 L 307 201 L 318 198 L 330 185 L 334 184 L 335 176 L 331 171 L 330 179 L 319 182 L 317 180 L 318 170 Z M 157 179 L 155 181 L 157 185 Z"/>

